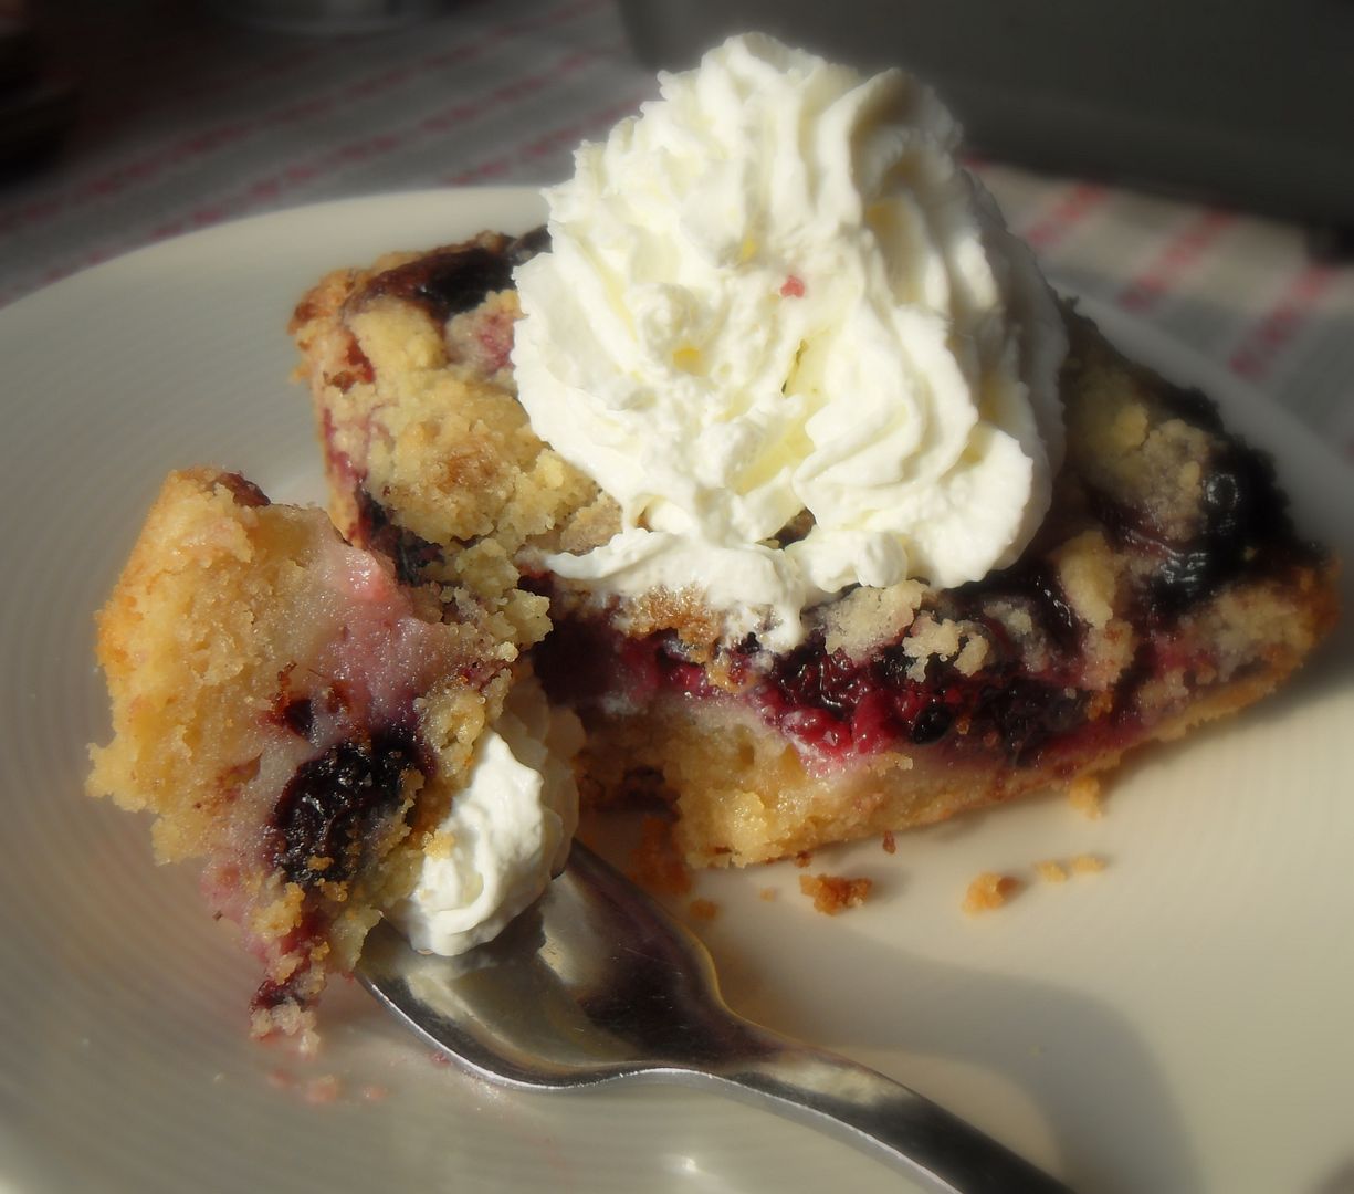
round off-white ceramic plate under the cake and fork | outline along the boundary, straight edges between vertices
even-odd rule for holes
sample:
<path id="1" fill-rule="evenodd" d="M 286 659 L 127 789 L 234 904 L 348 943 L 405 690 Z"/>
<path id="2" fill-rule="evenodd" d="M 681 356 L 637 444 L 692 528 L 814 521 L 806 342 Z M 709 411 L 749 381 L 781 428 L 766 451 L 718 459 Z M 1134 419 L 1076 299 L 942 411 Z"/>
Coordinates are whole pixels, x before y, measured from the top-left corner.
<path id="1" fill-rule="evenodd" d="M 318 497 L 286 336 L 336 265 L 538 218 L 531 192 L 413 194 L 249 219 L 0 313 L 0 1189 L 895 1190 L 864 1155 L 709 1094 L 523 1095 L 433 1064 L 352 984 L 317 1061 L 250 1044 L 255 971 L 146 824 L 81 795 L 106 730 L 91 615 L 162 474 Z M 1278 455 L 1354 559 L 1354 485 L 1205 361 L 1104 313 Z M 845 1052 L 1102 1191 L 1335 1191 L 1354 1179 L 1354 676 L 1346 632 L 1285 696 L 1135 764 L 1106 815 L 1034 800 L 815 868 L 876 896 L 827 919 L 780 865 L 704 876 L 734 1006 Z M 1108 869 L 969 919 L 979 870 Z M 777 892 L 762 899 L 765 889 Z"/>

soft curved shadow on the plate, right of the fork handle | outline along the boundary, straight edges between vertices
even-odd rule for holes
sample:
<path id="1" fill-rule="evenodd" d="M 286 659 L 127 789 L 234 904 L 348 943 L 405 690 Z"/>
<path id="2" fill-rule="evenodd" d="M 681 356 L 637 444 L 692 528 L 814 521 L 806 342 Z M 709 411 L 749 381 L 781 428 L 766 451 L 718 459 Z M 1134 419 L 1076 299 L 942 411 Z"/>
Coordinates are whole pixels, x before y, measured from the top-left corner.
<path id="1" fill-rule="evenodd" d="M 827 926 L 829 931 L 839 929 Z M 818 957 L 814 942 L 804 942 L 804 956 Z M 1048 1155 L 1074 1190 L 1185 1194 L 1200 1189 L 1198 1162 L 1171 1091 L 1122 1015 L 1047 981 L 894 950 L 876 957 L 877 965 L 844 975 L 830 1011 L 834 1025 L 865 1026 L 877 1022 L 880 1009 L 895 1009 L 888 1040 L 857 1038 L 856 1060 L 873 1064 L 942 1105 L 945 1092 L 930 1087 L 934 1075 L 944 1075 L 946 1068 L 964 1072 L 960 1080 L 965 1090 L 974 1087 L 975 1072 L 992 1079 L 986 1087 L 998 1098 L 1009 1090 L 1043 1121 L 1052 1143 Z M 735 1010 L 777 1032 L 823 1040 L 822 1009 L 798 1002 L 795 991 L 783 987 L 758 991 L 756 981 L 742 981 L 734 960 L 718 953 L 716 964 L 730 980 L 722 986 Z M 906 992 L 917 988 L 942 991 L 946 998 L 909 1000 Z M 883 1049 L 903 1057 L 884 1061 L 868 1056 Z M 932 1080 L 927 1074 L 933 1074 Z M 960 1109 L 952 1105 L 951 1110 Z M 983 1118 L 992 1110 L 988 1106 Z M 1013 1113 L 1011 1118 L 1020 1115 Z M 980 1126 L 1001 1134 L 995 1120 Z M 1345 1189 L 1339 1187 L 1339 1194 Z M 1330 1194 L 1336 1194 L 1335 1187 Z"/>

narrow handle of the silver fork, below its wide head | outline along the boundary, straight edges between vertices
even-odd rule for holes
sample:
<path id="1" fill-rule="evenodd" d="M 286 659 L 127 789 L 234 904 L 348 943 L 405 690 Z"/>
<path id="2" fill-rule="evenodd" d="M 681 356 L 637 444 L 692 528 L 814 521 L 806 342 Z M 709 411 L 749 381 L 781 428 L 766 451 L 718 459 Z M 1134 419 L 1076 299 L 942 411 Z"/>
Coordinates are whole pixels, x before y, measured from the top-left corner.
<path id="1" fill-rule="evenodd" d="M 1071 1194 L 990 1136 L 902 1083 L 762 1029 L 766 1052 L 701 1072 L 891 1162 L 936 1194 Z"/>

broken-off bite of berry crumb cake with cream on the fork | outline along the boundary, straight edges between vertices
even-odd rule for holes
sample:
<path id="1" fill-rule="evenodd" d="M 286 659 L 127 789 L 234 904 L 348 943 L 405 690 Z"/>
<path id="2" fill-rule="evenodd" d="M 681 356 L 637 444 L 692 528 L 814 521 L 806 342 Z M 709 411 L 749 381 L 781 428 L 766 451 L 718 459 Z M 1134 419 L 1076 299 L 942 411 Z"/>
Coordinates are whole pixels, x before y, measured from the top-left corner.
<path id="1" fill-rule="evenodd" d="M 532 758 L 506 727 L 515 623 L 542 604 L 403 583 L 322 510 L 274 505 L 236 474 L 165 482 L 99 617 L 114 738 L 89 788 L 156 815 L 161 861 L 203 861 L 211 911 L 264 963 L 256 1034 L 310 1040 L 328 976 L 382 915 L 427 945 L 409 900 L 429 858 L 475 885 L 448 900 L 462 934 L 501 927 L 562 865 L 569 792 L 497 793 L 510 862 L 467 820 L 477 776 L 510 772 L 515 749 Z"/>

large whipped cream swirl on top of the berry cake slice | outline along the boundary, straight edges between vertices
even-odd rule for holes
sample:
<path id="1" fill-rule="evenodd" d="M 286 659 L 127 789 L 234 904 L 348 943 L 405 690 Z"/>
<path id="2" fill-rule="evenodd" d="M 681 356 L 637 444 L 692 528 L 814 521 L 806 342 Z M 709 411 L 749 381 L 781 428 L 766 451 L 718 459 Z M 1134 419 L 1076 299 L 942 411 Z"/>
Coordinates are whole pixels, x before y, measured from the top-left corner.
<path id="1" fill-rule="evenodd" d="M 548 566 L 693 586 L 783 650 L 850 585 L 1010 563 L 1062 458 L 1066 338 L 946 110 L 758 35 L 659 83 L 546 191 L 552 249 L 517 272 L 521 402 L 621 508 Z"/>

